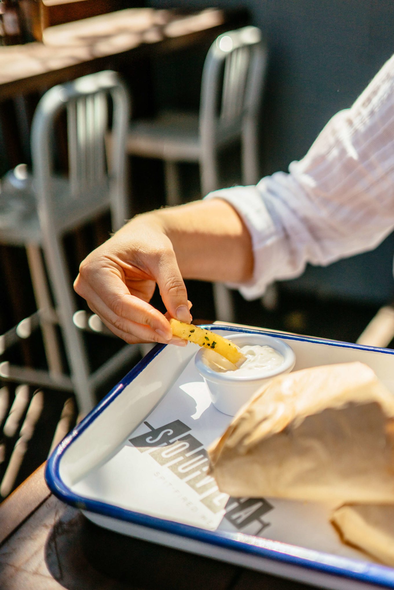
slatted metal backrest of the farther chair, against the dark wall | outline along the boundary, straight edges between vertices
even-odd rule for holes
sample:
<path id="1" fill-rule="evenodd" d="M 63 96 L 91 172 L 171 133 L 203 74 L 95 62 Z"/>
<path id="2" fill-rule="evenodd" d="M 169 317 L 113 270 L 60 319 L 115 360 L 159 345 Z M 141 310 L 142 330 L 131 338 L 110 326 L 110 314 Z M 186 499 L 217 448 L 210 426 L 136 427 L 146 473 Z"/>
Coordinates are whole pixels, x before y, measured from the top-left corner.
<path id="1" fill-rule="evenodd" d="M 207 54 L 201 81 L 203 149 L 257 133 L 267 50 L 261 31 L 243 27 L 220 35 Z"/>

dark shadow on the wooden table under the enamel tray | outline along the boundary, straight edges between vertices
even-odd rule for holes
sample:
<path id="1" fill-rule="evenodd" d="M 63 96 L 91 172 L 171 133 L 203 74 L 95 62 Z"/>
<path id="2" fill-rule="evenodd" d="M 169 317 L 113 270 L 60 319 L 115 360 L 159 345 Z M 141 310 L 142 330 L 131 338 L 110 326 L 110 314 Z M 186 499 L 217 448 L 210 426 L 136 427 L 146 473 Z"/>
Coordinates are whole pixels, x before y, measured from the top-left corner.
<path id="1" fill-rule="evenodd" d="M 226 590 L 239 568 L 99 527 L 71 507 L 56 518 L 45 562 L 67 590 Z"/>

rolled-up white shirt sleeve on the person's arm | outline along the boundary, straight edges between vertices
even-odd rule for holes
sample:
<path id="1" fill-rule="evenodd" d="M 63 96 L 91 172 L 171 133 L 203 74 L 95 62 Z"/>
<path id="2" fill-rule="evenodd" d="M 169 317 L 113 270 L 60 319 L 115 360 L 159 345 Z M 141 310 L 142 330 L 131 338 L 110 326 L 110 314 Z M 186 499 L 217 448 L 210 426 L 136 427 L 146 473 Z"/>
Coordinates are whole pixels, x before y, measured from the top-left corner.
<path id="1" fill-rule="evenodd" d="M 394 56 L 288 173 L 206 198 L 229 202 L 250 232 L 253 278 L 231 285 L 246 299 L 299 276 L 307 263 L 375 248 L 394 229 Z"/>

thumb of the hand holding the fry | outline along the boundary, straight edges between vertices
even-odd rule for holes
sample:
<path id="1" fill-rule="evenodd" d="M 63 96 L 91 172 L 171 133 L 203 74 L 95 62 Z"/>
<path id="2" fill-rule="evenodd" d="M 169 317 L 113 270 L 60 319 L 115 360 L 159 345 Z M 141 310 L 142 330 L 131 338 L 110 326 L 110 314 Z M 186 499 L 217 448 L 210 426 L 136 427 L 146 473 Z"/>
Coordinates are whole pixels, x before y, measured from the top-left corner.
<path id="1" fill-rule="evenodd" d="M 191 315 L 189 313 L 187 291 L 174 251 L 159 259 L 155 274 L 161 299 L 170 316 L 175 317 L 180 322 L 189 324 Z"/>

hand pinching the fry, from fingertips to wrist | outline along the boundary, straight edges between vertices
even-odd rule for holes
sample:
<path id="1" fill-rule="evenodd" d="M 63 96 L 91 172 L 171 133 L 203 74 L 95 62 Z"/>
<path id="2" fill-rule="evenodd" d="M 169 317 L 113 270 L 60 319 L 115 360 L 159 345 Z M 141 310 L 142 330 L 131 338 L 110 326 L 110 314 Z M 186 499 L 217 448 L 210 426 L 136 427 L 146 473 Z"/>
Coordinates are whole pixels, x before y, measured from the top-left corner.
<path id="1" fill-rule="evenodd" d="M 149 304 L 156 283 L 165 316 Z M 129 344 L 186 344 L 172 337 L 167 318 L 190 323 L 191 303 L 174 248 L 154 214 L 136 217 L 93 250 L 80 265 L 74 289 Z"/>

